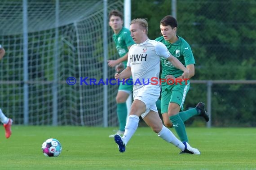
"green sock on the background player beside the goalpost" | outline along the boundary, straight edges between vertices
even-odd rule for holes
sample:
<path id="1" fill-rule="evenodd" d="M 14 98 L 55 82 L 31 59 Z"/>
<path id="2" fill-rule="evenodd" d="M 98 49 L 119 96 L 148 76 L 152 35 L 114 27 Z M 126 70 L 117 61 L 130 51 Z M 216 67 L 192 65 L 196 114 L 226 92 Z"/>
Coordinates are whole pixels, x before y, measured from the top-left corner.
<path id="1" fill-rule="evenodd" d="M 124 131 L 127 117 L 126 103 L 117 103 L 117 117 L 119 121 L 119 130 Z"/>

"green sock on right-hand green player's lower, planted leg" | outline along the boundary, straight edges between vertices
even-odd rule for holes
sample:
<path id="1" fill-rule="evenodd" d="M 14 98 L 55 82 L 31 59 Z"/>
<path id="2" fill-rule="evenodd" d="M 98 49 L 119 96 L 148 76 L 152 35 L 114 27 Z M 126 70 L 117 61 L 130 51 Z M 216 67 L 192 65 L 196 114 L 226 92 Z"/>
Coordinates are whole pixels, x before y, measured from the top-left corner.
<path id="1" fill-rule="evenodd" d="M 170 116 L 169 119 L 173 123 L 173 127 L 175 128 L 177 135 L 179 136 L 182 142 L 187 142 L 188 137 L 185 129 L 185 124 L 183 123 L 179 114 Z"/>

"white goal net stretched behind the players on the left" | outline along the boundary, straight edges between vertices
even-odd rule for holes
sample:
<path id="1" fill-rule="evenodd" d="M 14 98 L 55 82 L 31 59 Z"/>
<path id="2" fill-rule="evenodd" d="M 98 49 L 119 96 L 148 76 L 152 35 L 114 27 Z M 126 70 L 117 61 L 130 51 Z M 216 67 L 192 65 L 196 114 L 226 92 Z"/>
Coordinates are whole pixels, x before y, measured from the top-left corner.
<path id="1" fill-rule="evenodd" d="M 79 85 L 79 77 L 103 78 L 103 0 L 57 2 L 27 0 L 24 13 L 22 0 L 1 1 L 0 108 L 15 124 L 103 126 L 104 85 Z M 107 13 L 123 11 L 123 0 L 107 2 Z M 107 26 L 108 59 L 118 58 L 112 34 Z M 117 89 L 107 85 L 108 126 L 118 125 Z"/>

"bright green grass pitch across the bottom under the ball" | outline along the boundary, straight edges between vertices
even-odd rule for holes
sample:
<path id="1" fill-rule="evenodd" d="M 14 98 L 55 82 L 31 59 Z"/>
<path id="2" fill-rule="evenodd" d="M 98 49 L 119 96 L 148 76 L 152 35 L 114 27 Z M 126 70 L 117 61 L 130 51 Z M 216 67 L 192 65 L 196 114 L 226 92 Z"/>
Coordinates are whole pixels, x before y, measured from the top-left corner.
<path id="1" fill-rule="evenodd" d="M 13 126 L 0 136 L 0 170 L 252 170 L 256 169 L 256 128 L 187 128 L 190 145 L 201 155 L 180 150 L 139 127 L 126 152 L 119 153 L 113 127 Z M 171 129 L 174 132 L 174 129 Z M 45 157 L 41 144 L 56 138 L 59 157 Z"/>

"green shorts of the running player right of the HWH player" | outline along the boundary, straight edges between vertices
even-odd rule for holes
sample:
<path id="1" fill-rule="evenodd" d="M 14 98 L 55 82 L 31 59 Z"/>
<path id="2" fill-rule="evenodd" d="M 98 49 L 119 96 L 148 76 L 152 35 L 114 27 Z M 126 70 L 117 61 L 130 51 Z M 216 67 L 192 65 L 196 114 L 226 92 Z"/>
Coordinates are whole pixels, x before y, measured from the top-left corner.
<path id="1" fill-rule="evenodd" d="M 161 113 L 168 112 L 168 106 L 170 102 L 177 103 L 181 110 L 183 110 L 183 104 L 186 98 L 186 94 L 190 89 L 190 82 L 183 81 L 177 85 L 164 85 L 161 87 Z"/>

